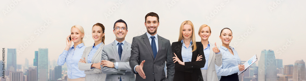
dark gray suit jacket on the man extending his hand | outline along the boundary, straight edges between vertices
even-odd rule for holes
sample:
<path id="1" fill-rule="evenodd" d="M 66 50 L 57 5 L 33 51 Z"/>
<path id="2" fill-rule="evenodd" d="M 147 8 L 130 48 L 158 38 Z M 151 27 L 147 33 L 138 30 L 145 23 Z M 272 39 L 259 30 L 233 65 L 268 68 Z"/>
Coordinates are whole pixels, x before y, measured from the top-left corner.
<path id="1" fill-rule="evenodd" d="M 136 73 L 136 81 L 173 81 L 174 63 L 170 41 L 159 35 L 157 37 L 158 52 L 155 59 L 146 33 L 133 38 L 131 57 L 129 59 L 132 71 L 135 72 L 134 67 L 145 60 L 143 70 L 146 79 L 141 78 L 140 75 Z M 165 61 L 167 66 L 167 78 L 164 71 Z"/>

